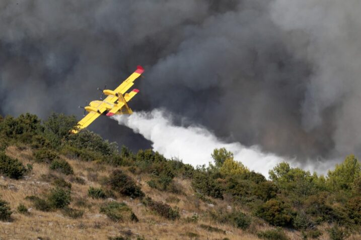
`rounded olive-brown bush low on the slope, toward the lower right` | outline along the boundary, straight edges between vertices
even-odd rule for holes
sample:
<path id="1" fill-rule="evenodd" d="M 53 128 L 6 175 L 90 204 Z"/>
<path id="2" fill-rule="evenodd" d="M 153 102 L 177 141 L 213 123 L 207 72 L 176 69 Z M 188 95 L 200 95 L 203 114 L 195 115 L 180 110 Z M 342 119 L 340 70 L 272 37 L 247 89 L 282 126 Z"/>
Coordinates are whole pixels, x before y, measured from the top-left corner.
<path id="1" fill-rule="evenodd" d="M 278 199 L 270 199 L 260 205 L 256 215 L 275 226 L 290 226 L 293 220 L 291 206 Z"/>

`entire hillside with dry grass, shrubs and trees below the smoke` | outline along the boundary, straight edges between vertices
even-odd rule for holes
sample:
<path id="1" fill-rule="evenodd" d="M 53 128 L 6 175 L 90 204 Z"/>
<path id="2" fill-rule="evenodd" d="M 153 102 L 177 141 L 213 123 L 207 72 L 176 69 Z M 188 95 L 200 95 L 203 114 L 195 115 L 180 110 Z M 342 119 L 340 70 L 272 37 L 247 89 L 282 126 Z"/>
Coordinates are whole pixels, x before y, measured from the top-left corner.
<path id="1" fill-rule="evenodd" d="M 226 149 L 193 168 L 69 134 L 76 123 L 0 117 L 0 239 L 361 239 L 353 155 L 327 176 L 281 163 L 266 180 Z"/>

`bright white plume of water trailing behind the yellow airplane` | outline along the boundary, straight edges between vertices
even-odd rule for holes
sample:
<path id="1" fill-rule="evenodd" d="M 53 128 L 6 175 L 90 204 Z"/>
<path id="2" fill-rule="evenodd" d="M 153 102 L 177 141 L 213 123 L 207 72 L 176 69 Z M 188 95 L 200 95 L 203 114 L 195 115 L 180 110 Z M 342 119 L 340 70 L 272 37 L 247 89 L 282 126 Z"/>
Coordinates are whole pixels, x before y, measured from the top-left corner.
<path id="1" fill-rule="evenodd" d="M 151 141 L 154 151 L 166 158 L 180 158 L 193 166 L 208 164 L 212 161 L 210 154 L 213 149 L 222 147 L 233 152 L 236 161 L 264 176 L 268 176 L 268 170 L 277 163 L 286 161 L 273 154 L 262 153 L 258 147 L 246 148 L 240 143 L 225 143 L 203 127 L 175 126 L 172 116 L 159 109 L 115 115 L 113 118 Z"/>

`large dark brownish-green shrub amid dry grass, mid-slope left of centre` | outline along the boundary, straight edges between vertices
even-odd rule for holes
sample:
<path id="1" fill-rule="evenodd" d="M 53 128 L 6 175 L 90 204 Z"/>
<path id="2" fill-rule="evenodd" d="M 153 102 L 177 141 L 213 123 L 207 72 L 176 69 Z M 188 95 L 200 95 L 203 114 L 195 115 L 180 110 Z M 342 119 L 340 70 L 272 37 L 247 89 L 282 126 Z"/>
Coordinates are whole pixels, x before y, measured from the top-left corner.
<path id="1" fill-rule="evenodd" d="M 121 170 L 114 170 L 107 183 L 114 191 L 126 196 L 136 198 L 145 195 L 140 187 Z"/>

